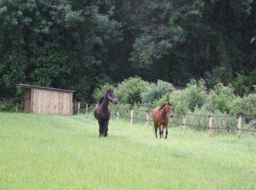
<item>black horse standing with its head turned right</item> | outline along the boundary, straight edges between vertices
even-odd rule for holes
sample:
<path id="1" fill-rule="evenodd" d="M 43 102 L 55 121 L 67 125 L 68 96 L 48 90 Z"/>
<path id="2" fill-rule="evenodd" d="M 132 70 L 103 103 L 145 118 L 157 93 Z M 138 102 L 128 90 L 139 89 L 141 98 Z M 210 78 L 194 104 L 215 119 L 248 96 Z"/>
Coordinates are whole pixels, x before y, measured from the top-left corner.
<path id="1" fill-rule="evenodd" d="M 108 125 L 110 117 L 109 101 L 117 103 L 117 98 L 112 90 L 107 90 L 104 97 L 99 99 L 99 102 L 94 107 L 94 117 L 99 123 L 99 136 L 108 135 Z"/>

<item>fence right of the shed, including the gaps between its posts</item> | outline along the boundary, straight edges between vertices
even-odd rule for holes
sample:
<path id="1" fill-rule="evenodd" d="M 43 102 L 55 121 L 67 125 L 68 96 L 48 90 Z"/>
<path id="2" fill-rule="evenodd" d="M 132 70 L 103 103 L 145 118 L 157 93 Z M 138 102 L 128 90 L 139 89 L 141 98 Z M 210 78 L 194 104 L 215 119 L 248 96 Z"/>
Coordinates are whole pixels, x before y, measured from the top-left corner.
<path id="1" fill-rule="evenodd" d="M 93 103 L 80 103 L 80 111 L 76 113 L 93 113 Z M 124 119 L 130 125 L 140 123 L 146 128 L 153 126 L 152 110 L 134 109 L 134 108 L 119 108 L 111 107 L 112 119 Z M 172 119 L 169 119 L 169 127 L 183 127 L 183 133 L 186 134 L 186 129 L 203 130 L 208 132 L 211 137 L 214 134 L 256 134 L 256 118 L 246 115 L 206 115 L 195 113 L 174 114 Z"/>

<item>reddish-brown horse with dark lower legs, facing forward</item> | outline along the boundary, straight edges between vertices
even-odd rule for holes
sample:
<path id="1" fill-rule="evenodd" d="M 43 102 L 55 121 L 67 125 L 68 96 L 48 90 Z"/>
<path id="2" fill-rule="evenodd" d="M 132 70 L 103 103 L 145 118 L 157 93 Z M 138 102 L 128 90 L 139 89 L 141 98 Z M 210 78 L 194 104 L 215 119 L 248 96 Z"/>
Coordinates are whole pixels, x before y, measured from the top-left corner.
<path id="1" fill-rule="evenodd" d="M 165 129 L 165 139 L 167 139 L 169 118 L 173 118 L 172 103 L 165 103 L 161 107 L 154 108 L 152 113 L 152 118 L 154 121 L 156 138 L 157 138 L 157 129 L 159 128 L 160 139 L 161 137 L 163 137 L 163 129 Z M 163 127 L 161 128 L 161 126 Z"/>

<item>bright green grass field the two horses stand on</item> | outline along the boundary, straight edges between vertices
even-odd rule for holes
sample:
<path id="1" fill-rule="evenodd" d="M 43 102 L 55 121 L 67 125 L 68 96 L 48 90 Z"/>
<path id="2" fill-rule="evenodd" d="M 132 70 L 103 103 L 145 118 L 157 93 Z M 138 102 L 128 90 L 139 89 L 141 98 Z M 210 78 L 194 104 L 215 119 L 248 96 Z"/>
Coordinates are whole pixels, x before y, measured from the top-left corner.
<path id="1" fill-rule="evenodd" d="M 256 189 L 256 135 L 215 135 L 93 115 L 0 113 L 0 189 Z"/>

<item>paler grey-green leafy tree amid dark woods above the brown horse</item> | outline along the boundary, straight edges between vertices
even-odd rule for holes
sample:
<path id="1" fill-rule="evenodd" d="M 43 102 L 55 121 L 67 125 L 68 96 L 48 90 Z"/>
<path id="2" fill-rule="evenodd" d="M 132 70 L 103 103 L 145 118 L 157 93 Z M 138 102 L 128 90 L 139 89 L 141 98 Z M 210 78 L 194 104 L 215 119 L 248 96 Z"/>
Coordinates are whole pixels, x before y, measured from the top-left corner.
<path id="1" fill-rule="evenodd" d="M 176 24 L 177 15 L 173 3 L 168 1 L 145 1 L 137 8 L 141 24 L 130 61 L 146 70 L 149 80 L 169 81 L 169 72 L 176 67 L 174 49 L 184 40 L 184 30 Z M 162 68 L 162 69 L 159 69 Z M 152 72 L 153 69 L 153 72 Z"/>

